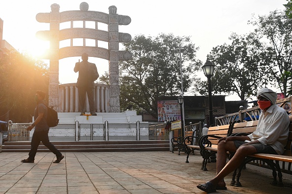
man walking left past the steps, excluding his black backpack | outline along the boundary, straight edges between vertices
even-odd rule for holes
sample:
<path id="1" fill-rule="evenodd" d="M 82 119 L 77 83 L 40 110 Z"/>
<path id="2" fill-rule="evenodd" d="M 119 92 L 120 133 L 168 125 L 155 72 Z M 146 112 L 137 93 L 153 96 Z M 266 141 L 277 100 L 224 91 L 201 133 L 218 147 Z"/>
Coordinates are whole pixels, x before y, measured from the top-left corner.
<path id="1" fill-rule="evenodd" d="M 48 108 L 45 105 L 44 99 L 45 93 L 43 91 L 36 91 L 36 107 L 34 109 L 35 120 L 31 125 L 29 125 L 27 130 L 31 131 L 33 127 L 35 128 L 30 143 L 31 147 L 29 151 L 29 158 L 21 160 L 23 163 L 34 163 L 34 157 L 40 142 L 42 142 L 43 145 L 48 147 L 57 156 L 57 160 L 54 163 L 59 163 L 64 158 L 61 152 L 49 140 L 48 133 L 50 128 L 47 124 Z"/>

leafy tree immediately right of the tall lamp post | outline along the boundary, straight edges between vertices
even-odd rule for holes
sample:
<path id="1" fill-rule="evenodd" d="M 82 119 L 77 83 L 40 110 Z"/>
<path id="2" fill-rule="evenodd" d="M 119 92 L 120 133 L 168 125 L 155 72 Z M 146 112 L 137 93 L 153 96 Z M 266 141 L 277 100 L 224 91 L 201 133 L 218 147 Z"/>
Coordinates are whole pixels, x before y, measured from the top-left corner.
<path id="1" fill-rule="evenodd" d="M 232 43 L 217 46 L 211 50 L 207 58 L 215 65 L 211 79 L 214 94 L 237 94 L 241 100 L 255 95 L 259 85 L 262 85 L 263 72 L 259 50 L 251 43 L 254 34 L 230 36 Z M 259 69 L 260 68 L 260 69 Z M 198 91 L 206 94 L 207 83 L 197 84 Z"/>

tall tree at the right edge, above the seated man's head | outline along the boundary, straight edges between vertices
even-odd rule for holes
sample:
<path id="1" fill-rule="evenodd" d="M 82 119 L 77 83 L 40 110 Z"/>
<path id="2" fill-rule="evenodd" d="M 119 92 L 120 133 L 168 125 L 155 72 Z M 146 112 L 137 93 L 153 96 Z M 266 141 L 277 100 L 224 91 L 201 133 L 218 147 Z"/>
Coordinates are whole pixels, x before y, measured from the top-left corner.
<path id="1" fill-rule="evenodd" d="M 257 27 L 254 43 L 262 50 L 267 77 L 287 97 L 290 77 L 285 72 L 292 72 L 292 20 L 284 12 L 276 10 L 259 16 L 251 24 Z"/>

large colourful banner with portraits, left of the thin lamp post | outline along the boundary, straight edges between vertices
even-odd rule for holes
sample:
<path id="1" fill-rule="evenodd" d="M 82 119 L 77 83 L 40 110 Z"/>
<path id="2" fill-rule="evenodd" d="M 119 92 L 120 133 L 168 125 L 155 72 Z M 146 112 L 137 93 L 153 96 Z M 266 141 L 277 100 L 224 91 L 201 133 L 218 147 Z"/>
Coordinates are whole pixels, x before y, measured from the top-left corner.
<path id="1" fill-rule="evenodd" d="M 159 100 L 157 107 L 158 122 L 180 120 L 180 106 L 177 100 Z"/>

